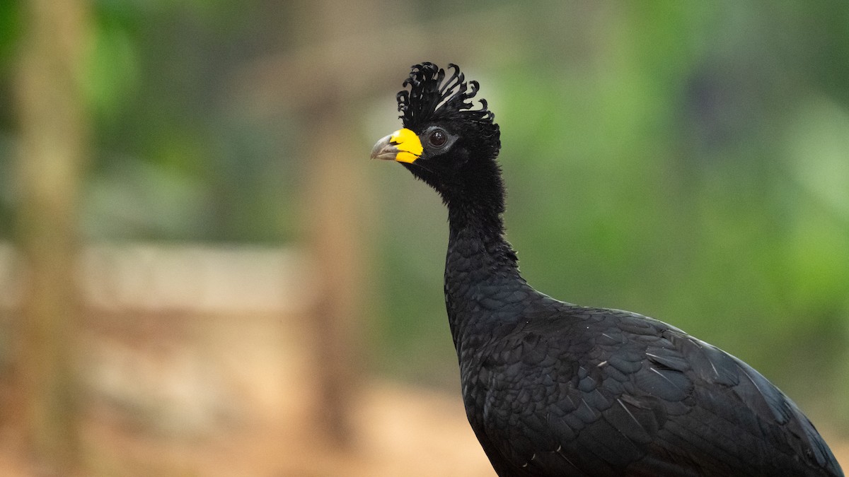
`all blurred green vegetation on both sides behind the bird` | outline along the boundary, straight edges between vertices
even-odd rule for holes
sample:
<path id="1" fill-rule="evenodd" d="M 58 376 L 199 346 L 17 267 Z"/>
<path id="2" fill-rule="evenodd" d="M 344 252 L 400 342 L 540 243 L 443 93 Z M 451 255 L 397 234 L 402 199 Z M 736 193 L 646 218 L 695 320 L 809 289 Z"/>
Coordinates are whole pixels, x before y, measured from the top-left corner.
<path id="1" fill-rule="evenodd" d="M 304 3 L 98 0 L 87 239 L 301 238 L 299 109 L 235 91 L 308 48 Z M 486 5 L 486 6 L 485 6 Z M 849 4 L 409 1 L 408 27 L 506 8 L 461 64 L 502 127 L 509 239 L 526 278 L 576 303 L 640 311 L 750 362 L 797 401 L 849 391 Z M 0 236 L 17 209 L 10 91 L 20 0 L 0 3 Z M 398 17 L 394 17 L 398 18 Z M 391 22 L 374 12 L 374 29 Z M 398 42 L 406 41 L 399 36 Z M 466 38 L 457 38 L 464 42 Z M 396 81 L 343 98 L 346 158 L 374 188 L 368 339 L 381 373 L 456 386 L 441 296 L 445 213 L 400 168 L 366 160 L 394 128 Z M 445 63 L 449 59 L 434 59 Z M 386 61 L 374 58 L 374 61 Z M 459 62 L 459 60 L 458 60 Z M 350 65 L 357 75 L 374 65 Z"/>

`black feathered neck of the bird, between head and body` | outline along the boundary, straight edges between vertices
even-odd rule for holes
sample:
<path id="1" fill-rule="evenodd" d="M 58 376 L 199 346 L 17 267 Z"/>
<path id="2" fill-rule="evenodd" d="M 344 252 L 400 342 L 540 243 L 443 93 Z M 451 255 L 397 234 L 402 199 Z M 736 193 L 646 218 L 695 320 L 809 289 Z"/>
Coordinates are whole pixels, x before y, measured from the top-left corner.
<path id="1" fill-rule="evenodd" d="M 448 204 L 445 300 L 459 355 L 475 346 L 472 341 L 486 340 L 500 325 L 515 321 L 520 298 L 530 288 L 504 239 L 502 204 Z"/>

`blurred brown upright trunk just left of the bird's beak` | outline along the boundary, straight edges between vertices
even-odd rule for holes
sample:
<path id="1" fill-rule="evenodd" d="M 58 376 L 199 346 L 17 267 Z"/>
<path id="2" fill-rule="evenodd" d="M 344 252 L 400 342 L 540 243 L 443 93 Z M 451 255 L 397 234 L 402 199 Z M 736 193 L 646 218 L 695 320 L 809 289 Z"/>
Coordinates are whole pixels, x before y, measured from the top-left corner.
<path id="1" fill-rule="evenodd" d="M 351 437 L 349 414 L 357 401 L 357 356 L 363 328 L 363 249 L 357 222 L 357 176 L 351 160 L 338 153 L 346 147 L 338 104 L 317 109 L 329 115 L 314 117 L 309 131 L 325 140 L 307 153 L 307 220 L 310 255 L 317 268 L 318 300 L 310 318 L 318 400 L 315 424 L 330 443 L 346 446 Z M 344 153 L 343 153 L 344 154 Z M 341 163 L 341 164 L 340 164 Z"/>

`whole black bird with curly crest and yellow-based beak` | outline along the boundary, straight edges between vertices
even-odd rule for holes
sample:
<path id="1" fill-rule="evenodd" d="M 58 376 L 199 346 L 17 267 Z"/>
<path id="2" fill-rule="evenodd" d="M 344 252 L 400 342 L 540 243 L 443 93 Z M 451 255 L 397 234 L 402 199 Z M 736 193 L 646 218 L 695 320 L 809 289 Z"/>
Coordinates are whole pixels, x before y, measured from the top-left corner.
<path id="1" fill-rule="evenodd" d="M 498 475 L 843 475 L 790 398 L 734 356 L 629 311 L 554 300 L 504 239 L 498 125 L 476 81 L 414 65 L 396 160 L 447 205 L 445 303 L 469 424 Z M 409 90 L 407 89 L 409 87 Z"/>

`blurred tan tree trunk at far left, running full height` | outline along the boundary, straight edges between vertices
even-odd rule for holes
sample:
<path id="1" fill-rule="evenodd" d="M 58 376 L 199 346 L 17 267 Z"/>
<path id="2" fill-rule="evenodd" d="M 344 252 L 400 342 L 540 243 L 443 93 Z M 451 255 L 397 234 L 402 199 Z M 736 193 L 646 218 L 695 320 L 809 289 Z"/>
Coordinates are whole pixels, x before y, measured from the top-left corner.
<path id="1" fill-rule="evenodd" d="M 87 152 L 81 65 L 85 0 L 22 3 L 16 77 L 20 126 L 17 238 L 25 295 L 14 375 L 14 420 L 39 474 L 74 474 L 77 208 Z"/>

